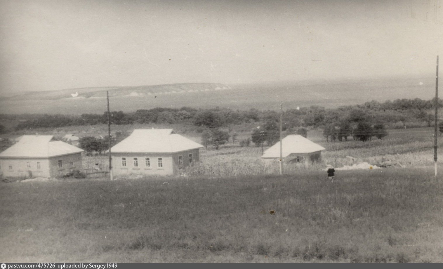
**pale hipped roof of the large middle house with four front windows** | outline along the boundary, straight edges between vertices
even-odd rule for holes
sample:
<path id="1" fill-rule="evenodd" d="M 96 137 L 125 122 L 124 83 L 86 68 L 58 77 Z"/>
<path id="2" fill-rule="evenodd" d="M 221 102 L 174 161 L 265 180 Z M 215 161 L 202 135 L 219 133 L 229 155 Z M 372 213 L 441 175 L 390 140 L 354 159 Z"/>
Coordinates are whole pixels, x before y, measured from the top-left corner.
<path id="1" fill-rule="evenodd" d="M 111 152 L 157 152 L 172 153 L 203 148 L 186 137 L 173 133 L 172 129 L 136 129 L 117 145 Z"/>

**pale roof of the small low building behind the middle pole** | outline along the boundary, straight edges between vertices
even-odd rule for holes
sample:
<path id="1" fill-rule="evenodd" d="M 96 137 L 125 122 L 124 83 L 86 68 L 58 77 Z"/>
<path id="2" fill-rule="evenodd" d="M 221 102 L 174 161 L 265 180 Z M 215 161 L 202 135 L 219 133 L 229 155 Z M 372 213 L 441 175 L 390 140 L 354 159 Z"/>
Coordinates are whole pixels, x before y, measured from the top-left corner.
<path id="1" fill-rule="evenodd" d="M 292 153 L 311 153 L 324 150 L 319 144 L 315 144 L 311 140 L 300 135 L 289 135 L 282 140 L 283 157 L 287 157 Z M 280 158 L 280 141 L 268 148 L 262 158 Z"/>

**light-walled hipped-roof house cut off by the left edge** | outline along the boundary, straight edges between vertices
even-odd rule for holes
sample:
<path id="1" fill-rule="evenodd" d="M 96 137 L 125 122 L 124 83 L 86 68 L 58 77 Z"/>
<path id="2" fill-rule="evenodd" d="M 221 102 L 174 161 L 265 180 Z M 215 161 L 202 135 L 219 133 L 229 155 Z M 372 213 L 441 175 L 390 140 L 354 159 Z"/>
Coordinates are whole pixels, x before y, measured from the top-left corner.
<path id="1" fill-rule="evenodd" d="M 53 136 L 24 135 L 0 153 L 0 169 L 9 177 L 57 177 L 82 169 L 82 152 Z"/>

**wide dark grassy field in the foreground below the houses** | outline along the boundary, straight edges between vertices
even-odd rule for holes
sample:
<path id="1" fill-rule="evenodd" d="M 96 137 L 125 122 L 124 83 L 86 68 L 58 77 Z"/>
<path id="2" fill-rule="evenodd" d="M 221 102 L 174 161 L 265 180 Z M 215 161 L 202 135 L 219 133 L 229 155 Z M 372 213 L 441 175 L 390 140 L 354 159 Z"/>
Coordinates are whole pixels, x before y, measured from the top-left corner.
<path id="1" fill-rule="evenodd" d="M 3 183 L 0 260 L 443 262 L 432 171 Z"/>

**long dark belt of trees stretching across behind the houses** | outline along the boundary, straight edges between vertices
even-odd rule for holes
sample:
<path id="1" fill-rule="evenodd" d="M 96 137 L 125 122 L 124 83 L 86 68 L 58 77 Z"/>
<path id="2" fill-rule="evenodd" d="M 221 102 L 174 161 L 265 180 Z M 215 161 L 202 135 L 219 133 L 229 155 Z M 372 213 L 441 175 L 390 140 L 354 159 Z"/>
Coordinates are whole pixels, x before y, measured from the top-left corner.
<path id="1" fill-rule="evenodd" d="M 439 99 L 439 106 L 443 101 Z M 361 118 L 374 127 L 377 124 L 390 125 L 406 121 L 424 121 L 431 126 L 433 115 L 429 110 L 433 108 L 433 100 L 397 99 L 383 103 L 377 101 L 366 102 L 363 105 L 342 106 L 336 109 L 325 109 L 321 106 L 302 107 L 300 109 L 286 109 L 283 115 L 285 129 L 294 130 L 300 126 L 319 127 L 334 125 L 334 128 L 343 125 L 343 122 L 355 123 L 351 130 L 356 129 Z M 112 124 L 188 124 L 209 129 L 226 128 L 247 122 L 278 122 L 280 115 L 273 110 L 233 110 L 233 109 L 193 109 L 182 107 L 139 109 L 136 112 L 124 113 L 113 111 Z M 58 128 L 70 125 L 97 125 L 108 122 L 108 113 L 72 115 L 0 115 L 0 119 L 16 120 L 16 130 L 35 128 Z M 342 126 L 344 127 L 344 126 Z M 344 128 L 346 129 L 346 128 Z M 263 131 L 260 130 L 260 131 Z M 351 132 L 352 133 L 352 132 Z M 336 135 L 344 137 L 341 133 Z"/>

